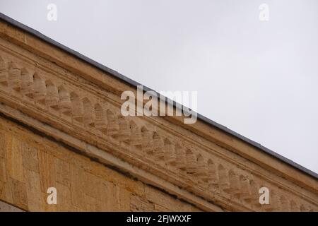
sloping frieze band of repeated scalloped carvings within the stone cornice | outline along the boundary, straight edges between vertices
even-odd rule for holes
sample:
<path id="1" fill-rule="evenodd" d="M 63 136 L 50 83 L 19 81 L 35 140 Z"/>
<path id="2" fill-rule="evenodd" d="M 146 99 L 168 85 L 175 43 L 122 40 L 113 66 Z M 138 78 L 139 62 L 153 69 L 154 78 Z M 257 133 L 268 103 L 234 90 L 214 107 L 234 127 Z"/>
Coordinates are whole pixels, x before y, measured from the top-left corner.
<path id="1" fill-rule="evenodd" d="M 317 193 L 218 147 L 221 155 L 211 141 L 180 134 L 163 118 L 123 117 L 119 97 L 52 68 L 1 47 L 0 102 L 225 209 L 318 210 Z M 270 205 L 259 204 L 261 186 L 271 191 Z"/>

